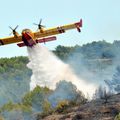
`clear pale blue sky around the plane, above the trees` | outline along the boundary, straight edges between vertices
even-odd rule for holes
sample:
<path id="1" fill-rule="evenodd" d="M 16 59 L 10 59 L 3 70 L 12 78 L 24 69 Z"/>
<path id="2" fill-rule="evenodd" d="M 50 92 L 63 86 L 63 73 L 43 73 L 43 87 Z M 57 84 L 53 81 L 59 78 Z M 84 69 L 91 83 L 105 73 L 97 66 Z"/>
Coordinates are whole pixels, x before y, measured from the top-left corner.
<path id="1" fill-rule="evenodd" d="M 58 45 L 74 46 L 106 40 L 120 40 L 120 0 L 0 0 L 0 38 L 8 37 L 8 26 L 19 25 L 21 34 L 24 28 L 37 30 L 42 18 L 46 28 L 78 22 L 83 19 L 82 32 L 67 31 L 57 35 L 57 41 L 46 43 L 53 50 Z M 44 46 L 44 44 L 41 44 Z M 0 46 L 0 58 L 27 56 L 26 47 L 16 44 Z"/>

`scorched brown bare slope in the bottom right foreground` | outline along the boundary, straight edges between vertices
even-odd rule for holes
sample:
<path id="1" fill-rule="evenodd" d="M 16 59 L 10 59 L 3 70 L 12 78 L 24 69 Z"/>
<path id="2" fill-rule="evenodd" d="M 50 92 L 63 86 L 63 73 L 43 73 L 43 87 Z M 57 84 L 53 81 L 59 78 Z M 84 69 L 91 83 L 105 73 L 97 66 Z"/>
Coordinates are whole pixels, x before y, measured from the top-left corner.
<path id="1" fill-rule="evenodd" d="M 37 120 L 115 120 L 120 112 L 120 94 L 112 95 L 108 103 L 92 100 L 84 105 L 68 108 L 64 113 L 54 112 L 49 116 L 37 115 Z"/>

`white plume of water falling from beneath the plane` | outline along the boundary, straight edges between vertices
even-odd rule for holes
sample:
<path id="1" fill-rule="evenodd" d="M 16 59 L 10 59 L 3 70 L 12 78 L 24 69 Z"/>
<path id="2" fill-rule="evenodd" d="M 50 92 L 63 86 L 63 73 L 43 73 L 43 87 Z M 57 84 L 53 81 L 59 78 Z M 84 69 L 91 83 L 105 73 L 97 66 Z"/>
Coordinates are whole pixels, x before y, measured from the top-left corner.
<path id="1" fill-rule="evenodd" d="M 68 64 L 63 63 L 52 52 L 43 46 L 36 45 L 28 49 L 30 62 L 28 68 L 32 69 L 30 89 L 33 90 L 36 85 L 47 86 L 55 89 L 56 83 L 61 80 L 72 82 L 78 90 L 85 95 L 92 96 L 97 86 L 88 84 L 78 78 Z"/>

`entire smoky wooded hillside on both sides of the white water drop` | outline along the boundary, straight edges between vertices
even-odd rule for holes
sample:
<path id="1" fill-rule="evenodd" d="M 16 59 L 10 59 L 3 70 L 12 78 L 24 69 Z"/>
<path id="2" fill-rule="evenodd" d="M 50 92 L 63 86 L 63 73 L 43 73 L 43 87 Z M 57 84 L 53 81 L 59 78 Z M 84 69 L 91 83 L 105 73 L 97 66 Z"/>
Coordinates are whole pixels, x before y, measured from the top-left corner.
<path id="1" fill-rule="evenodd" d="M 81 79 L 91 84 L 107 85 L 112 92 L 119 93 L 119 51 L 120 41 L 107 43 L 103 40 L 83 46 L 65 47 L 59 45 L 53 53 L 64 63 L 69 64 Z M 82 117 L 83 120 L 90 120 L 89 118 L 97 120 L 95 117 L 106 117 L 106 115 L 113 118 L 111 107 L 115 107 L 120 112 L 116 107 L 120 104 L 119 94 L 113 95 L 106 106 L 101 100 L 83 104 L 86 102 L 86 98 L 82 92 L 77 91 L 76 86 L 65 82 L 64 79 L 56 85 L 55 90 L 37 86 L 30 91 L 32 71 L 28 69 L 28 63 L 28 57 L 22 56 L 0 59 L 0 118 L 3 116 L 6 120 L 9 120 L 10 117 L 16 120 L 20 116 L 24 120 L 30 120 L 31 116 L 35 115 L 36 117 L 37 115 L 39 118 L 41 116 L 37 113 L 41 114 L 46 109 L 49 113 L 50 109 L 52 115 L 45 117 L 46 120 L 49 118 L 64 120 L 69 117 L 73 120 L 77 120 L 77 117 L 78 119 Z M 59 114 L 55 111 L 61 101 L 68 105 L 66 114 Z M 72 102 L 72 105 L 76 107 L 69 106 L 67 102 Z M 55 112 L 51 111 L 51 108 Z M 104 113 L 104 109 L 110 111 Z M 103 111 L 101 112 L 101 110 Z"/>

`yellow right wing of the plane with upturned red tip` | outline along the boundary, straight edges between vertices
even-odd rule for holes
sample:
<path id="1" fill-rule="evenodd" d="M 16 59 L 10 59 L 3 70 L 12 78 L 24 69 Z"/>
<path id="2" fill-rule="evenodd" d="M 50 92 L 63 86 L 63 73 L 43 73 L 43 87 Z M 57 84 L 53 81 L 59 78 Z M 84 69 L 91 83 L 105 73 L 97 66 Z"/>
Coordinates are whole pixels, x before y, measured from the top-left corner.
<path id="1" fill-rule="evenodd" d="M 61 34 L 64 33 L 66 30 L 70 29 L 77 29 L 78 32 L 81 32 L 80 27 L 82 27 L 82 19 L 80 22 L 76 22 L 73 24 L 68 24 L 68 25 L 63 25 L 55 28 L 50 28 L 43 30 L 42 32 L 34 32 L 34 37 L 35 38 L 41 38 L 41 37 L 46 37 L 46 36 L 51 36 L 51 35 L 56 35 L 56 34 Z"/>

